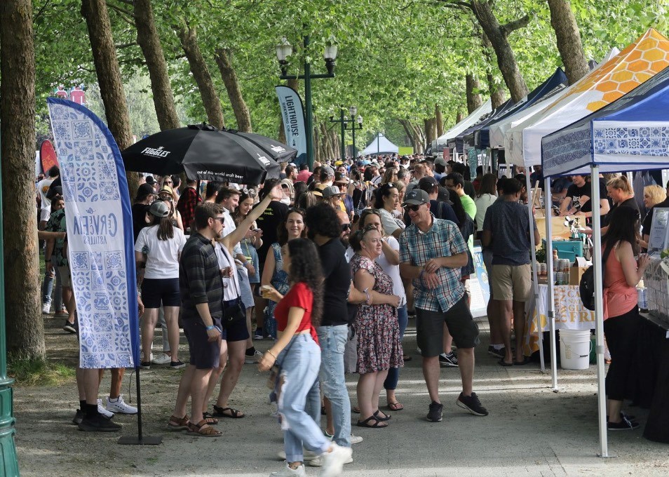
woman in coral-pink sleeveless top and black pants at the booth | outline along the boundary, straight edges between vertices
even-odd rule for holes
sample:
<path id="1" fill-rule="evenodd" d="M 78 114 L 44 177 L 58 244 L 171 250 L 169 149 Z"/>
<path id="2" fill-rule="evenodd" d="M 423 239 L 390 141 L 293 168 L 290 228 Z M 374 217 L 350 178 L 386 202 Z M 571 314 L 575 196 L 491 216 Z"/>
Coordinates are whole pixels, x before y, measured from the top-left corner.
<path id="1" fill-rule="evenodd" d="M 636 285 L 648 266 L 648 257 L 639 253 L 639 211 L 619 207 L 611 213 L 607 233 L 602 237 L 604 254 L 604 335 L 611 352 L 611 365 L 607 373 L 607 428 L 609 431 L 637 429 L 634 422 L 621 412 L 626 395 L 626 382 L 632 372 L 630 358 L 637 337 L 640 320 L 637 307 Z"/>

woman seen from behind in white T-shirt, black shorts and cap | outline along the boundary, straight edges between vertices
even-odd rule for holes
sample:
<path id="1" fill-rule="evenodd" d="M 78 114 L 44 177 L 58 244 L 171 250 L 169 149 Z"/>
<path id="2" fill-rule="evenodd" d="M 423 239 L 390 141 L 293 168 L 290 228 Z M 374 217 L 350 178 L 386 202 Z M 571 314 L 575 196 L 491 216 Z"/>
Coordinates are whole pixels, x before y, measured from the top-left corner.
<path id="1" fill-rule="evenodd" d="M 140 230 L 135 242 L 135 261 L 140 273 L 139 283 L 144 302 L 142 315 L 142 354 L 140 368 L 151 368 L 151 344 L 158 320 L 158 308 L 163 306 L 170 342 L 170 367 L 184 368 L 179 361 L 179 258 L 186 244 L 184 232 L 173 225 L 170 206 L 155 201 L 149 207 L 153 222 Z"/>

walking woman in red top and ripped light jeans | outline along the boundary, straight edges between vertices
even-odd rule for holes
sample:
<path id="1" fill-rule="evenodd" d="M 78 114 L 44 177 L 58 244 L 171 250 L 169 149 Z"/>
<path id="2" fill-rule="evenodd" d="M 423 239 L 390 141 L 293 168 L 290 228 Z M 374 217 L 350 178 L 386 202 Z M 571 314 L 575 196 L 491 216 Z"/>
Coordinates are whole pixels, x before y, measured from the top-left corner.
<path id="1" fill-rule="evenodd" d="M 328 441 L 317 424 L 320 422 L 320 347 L 315 327 L 323 312 L 323 274 L 318 251 L 306 238 L 295 238 L 283 246 L 281 255 L 290 289 L 285 296 L 274 288 L 269 292 L 269 298 L 278 302 L 274 310 L 278 340 L 258 363 L 261 371 L 269 370 L 275 362 L 281 366 L 278 412 L 282 417 L 288 464 L 271 475 L 304 476 L 304 447 L 323 456 L 321 476 L 338 476 L 344 463 L 351 459 L 351 448 Z"/>

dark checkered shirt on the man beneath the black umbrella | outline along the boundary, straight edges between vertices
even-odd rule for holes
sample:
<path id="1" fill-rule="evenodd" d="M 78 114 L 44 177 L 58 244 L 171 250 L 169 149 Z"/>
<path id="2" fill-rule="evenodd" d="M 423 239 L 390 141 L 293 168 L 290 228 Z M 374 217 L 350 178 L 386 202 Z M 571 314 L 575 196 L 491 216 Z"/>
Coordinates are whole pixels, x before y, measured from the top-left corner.
<path id="1" fill-rule="evenodd" d="M 223 285 L 218 259 L 211 241 L 194 232 L 179 262 L 179 288 L 184 319 L 202 320 L 197 304 L 208 303 L 213 318 L 223 316 Z"/>

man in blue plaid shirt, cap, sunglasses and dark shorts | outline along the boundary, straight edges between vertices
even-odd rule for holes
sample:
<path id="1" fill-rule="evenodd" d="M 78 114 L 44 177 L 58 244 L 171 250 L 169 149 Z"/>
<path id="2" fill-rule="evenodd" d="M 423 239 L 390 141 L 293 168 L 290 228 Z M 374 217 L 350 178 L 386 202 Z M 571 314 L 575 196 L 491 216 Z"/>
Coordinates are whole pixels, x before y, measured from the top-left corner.
<path id="1" fill-rule="evenodd" d="M 400 236 L 400 274 L 412 279 L 414 285 L 417 340 L 432 400 L 427 419 L 442 419 L 439 355 L 443 352 L 444 323 L 458 346 L 462 392 L 456 404 L 473 415 L 486 416 L 487 410 L 472 391 L 474 347 L 479 340 L 460 281 L 460 269 L 467 264 L 467 244 L 456 224 L 431 214 L 425 191 L 413 189 L 402 205 L 413 223 Z"/>

